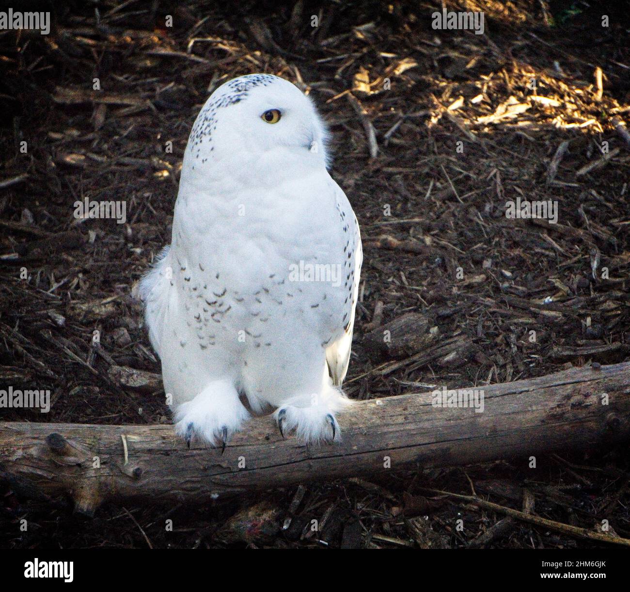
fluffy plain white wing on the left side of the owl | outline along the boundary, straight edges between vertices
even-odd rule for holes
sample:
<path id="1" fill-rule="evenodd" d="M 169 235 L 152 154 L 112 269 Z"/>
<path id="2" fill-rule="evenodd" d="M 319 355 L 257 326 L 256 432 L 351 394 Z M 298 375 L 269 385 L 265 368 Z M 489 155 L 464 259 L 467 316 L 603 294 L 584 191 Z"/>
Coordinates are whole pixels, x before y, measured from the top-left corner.
<path id="1" fill-rule="evenodd" d="M 169 247 L 166 246 L 154 260 L 151 269 L 140 280 L 140 297 L 144 301 L 144 321 L 149 330 L 151 345 L 159 357 L 162 357 L 160 342 L 168 292 L 173 277 L 168 254 Z"/>

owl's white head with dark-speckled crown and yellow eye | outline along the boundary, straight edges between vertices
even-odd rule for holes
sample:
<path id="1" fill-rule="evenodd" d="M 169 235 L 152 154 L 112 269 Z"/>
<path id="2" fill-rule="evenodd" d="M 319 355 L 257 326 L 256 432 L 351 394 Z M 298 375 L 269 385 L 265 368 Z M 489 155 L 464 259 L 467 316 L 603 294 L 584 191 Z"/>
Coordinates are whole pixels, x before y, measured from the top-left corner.
<path id="1" fill-rule="evenodd" d="M 311 99 L 294 84 L 271 74 L 248 74 L 219 86 L 203 105 L 185 161 L 202 170 L 229 163 L 239 153 L 256 159 L 275 152 L 326 166 L 326 138 Z"/>

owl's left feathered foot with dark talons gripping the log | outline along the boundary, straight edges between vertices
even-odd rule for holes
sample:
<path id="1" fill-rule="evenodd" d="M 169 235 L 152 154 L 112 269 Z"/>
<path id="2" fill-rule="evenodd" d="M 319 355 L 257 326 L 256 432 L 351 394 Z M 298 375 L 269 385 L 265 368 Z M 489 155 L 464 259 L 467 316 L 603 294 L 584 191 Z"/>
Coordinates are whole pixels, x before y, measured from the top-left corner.
<path id="1" fill-rule="evenodd" d="M 250 417 L 231 381 L 216 380 L 207 385 L 192 400 L 175 409 L 175 432 L 186 440 L 188 447 L 198 438 L 210 446 L 226 444 Z"/>

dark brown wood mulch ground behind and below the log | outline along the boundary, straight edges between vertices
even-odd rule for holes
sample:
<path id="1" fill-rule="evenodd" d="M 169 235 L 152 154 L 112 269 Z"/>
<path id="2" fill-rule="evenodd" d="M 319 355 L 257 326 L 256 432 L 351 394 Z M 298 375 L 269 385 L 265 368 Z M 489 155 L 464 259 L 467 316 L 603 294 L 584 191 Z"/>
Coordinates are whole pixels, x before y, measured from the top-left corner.
<path id="1" fill-rule="evenodd" d="M 263 71 L 318 104 L 331 173 L 362 228 L 350 397 L 630 359 L 622 3 L 447 3 L 483 10 L 483 35 L 433 30 L 437 3 L 217 4 L 69 3 L 50 35 L 0 32 L 0 383 L 52 392 L 49 414 L 2 409 L 3 420 L 170 421 L 134 286 L 170 240 L 198 110 L 223 81 Z M 76 219 L 86 197 L 125 201 L 127 222 Z M 556 201 L 557 223 L 507 218 L 518 197 Z M 434 339 L 427 356 L 370 347 L 370 328 L 410 312 Z M 145 371 L 148 386 L 119 367 Z M 263 502 L 108 505 L 89 522 L 66 500 L 42 506 L 4 484 L 0 547 L 597 547 L 423 488 L 593 531 L 607 519 L 630 537 L 629 461 L 627 447 L 589 450 L 542 456 L 536 470 L 500 461 Z"/>

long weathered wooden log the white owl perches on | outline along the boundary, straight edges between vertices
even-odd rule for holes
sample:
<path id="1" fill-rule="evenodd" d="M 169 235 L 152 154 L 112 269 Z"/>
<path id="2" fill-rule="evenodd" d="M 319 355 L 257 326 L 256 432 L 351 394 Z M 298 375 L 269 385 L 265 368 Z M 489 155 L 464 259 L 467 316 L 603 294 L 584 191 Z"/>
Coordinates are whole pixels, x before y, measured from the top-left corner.
<path id="1" fill-rule="evenodd" d="M 307 448 L 270 417 L 249 422 L 222 455 L 188 450 L 173 426 L 0 423 L 0 478 L 30 496 L 70 494 L 93 514 L 106 500 L 203 502 L 246 490 L 467 465 L 630 439 L 630 362 L 486 386 L 484 410 L 432 405 L 432 394 L 355 403 L 343 441 Z M 602 404 L 602 403 L 608 404 Z M 391 468 L 384 468 L 384 457 Z M 98 466 L 96 464 L 98 457 Z"/>

